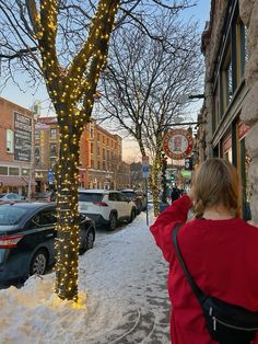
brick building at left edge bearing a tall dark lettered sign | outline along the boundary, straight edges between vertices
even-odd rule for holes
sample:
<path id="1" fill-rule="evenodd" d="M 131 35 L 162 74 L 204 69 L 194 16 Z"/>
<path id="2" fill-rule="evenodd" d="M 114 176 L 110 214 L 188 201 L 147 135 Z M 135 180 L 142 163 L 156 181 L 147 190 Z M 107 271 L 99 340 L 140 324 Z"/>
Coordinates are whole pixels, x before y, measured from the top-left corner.
<path id="1" fill-rule="evenodd" d="M 0 193 L 33 191 L 33 113 L 0 98 Z"/>

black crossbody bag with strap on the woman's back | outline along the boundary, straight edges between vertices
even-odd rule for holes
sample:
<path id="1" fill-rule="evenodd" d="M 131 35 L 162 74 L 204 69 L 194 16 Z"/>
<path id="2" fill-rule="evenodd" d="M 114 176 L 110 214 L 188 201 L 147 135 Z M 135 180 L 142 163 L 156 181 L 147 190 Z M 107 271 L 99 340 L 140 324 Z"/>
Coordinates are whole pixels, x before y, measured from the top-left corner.
<path id="1" fill-rule="evenodd" d="M 190 276 L 177 244 L 177 232 L 181 223 L 173 230 L 173 243 L 185 276 L 202 308 L 207 329 L 213 340 L 221 344 L 250 344 L 258 331 L 258 312 L 230 305 L 215 297 L 204 295 Z"/>

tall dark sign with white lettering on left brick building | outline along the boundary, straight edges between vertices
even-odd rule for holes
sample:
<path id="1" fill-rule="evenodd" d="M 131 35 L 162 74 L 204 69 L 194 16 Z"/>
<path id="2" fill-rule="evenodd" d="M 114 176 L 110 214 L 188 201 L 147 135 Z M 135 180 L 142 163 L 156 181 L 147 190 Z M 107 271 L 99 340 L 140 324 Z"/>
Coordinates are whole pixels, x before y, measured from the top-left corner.
<path id="1" fill-rule="evenodd" d="M 14 112 L 14 160 L 32 159 L 32 118 Z"/>

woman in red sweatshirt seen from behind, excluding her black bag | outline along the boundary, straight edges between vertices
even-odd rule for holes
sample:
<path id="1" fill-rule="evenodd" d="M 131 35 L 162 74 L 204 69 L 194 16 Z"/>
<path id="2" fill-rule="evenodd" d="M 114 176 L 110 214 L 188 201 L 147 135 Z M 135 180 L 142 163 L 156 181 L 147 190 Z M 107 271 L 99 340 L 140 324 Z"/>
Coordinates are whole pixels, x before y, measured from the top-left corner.
<path id="1" fill-rule="evenodd" d="M 196 218 L 187 222 L 188 210 Z M 235 168 L 223 159 L 208 159 L 197 170 L 190 195 L 162 213 L 151 232 L 169 263 L 173 344 L 216 344 L 201 307 L 176 257 L 172 231 L 181 256 L 201 290 L 225 302 L 258 311 L 258 229 L 239 217 L 239 182 Z M 254 344 L 258 344 L 258 334 Z"/>

